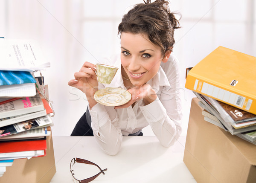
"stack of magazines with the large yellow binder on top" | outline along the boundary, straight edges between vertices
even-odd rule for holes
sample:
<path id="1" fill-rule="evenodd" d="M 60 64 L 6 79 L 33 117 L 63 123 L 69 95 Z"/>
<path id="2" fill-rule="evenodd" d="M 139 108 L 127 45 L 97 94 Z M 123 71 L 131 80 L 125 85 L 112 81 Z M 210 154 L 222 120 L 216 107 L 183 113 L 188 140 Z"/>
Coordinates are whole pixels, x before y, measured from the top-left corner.
<path id="1" fill-rule="evenodd" d="M 219 46 L 187 68 L 185 87 L 207 122 L 256 145 L 256 58 Z"/>

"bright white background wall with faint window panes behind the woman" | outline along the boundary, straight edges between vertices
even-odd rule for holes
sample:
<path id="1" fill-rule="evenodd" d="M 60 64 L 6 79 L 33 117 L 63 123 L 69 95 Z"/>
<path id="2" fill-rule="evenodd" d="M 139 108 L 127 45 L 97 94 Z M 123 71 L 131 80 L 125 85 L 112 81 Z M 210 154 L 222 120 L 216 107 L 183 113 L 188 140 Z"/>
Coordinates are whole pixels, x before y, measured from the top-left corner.
<path id="1" fill-rule="evenodd" d="M 54 102 L 54 136 L 69 136 L 87 107 L 85 96 L 67 85 L 84 61 L 96 63 L 119 52 L 117 25 L 129 6 L 143 0 L 0 0 L 0 37 L 35 39 L 51 67 L 43 71 Z M 218 46 L 256 55 L 255 0 L 171 0 L 182 14 L 175 31 L 175 56 L 185 69 Z M 183 92 L 186 135 L 193 94 Z M 146 128 L 144 135 L 153 135 Z"/>

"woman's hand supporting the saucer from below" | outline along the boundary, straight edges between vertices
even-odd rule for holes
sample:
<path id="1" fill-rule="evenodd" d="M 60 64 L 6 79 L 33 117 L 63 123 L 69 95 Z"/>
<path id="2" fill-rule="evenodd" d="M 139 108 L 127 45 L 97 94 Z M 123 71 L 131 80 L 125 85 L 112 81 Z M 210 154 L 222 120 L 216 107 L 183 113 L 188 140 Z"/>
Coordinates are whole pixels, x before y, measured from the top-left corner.
<path id="1" fill-rule="evenodd" d="M 129 107 L 137 100 L 142 100 L 142 99 L 144 104 L 148 105 L 151 102 L 153 102 L 155 99 L 157 99 L 157 93 L 152 89 L 152 87 L 149 84 L 143 84 L 140 87 L 133 87 L 127 91 L 131 93 L 131 100 L 124 105 L 116 106 L 115 109 Z"/>

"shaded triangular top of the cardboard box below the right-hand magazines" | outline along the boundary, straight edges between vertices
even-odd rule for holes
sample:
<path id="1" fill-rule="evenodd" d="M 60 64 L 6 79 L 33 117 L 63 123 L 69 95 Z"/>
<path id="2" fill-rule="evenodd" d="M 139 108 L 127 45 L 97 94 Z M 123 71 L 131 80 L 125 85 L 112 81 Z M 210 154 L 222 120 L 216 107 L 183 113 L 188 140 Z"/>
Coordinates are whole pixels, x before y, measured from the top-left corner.
<path id="1" fill-rule="evenodd" d="M 221 128 L 220 128 L 221 129 Z M 236 135 L 232 135 L 229 132 L 224 131 L 221 129 L 223 134 L 230 139 L 230 141 L 236 146 L 236 148 L 244 154 L 244 157 L 248 160 L 251 165 L 256 166 L 256 145 L 247 142 Z"/>

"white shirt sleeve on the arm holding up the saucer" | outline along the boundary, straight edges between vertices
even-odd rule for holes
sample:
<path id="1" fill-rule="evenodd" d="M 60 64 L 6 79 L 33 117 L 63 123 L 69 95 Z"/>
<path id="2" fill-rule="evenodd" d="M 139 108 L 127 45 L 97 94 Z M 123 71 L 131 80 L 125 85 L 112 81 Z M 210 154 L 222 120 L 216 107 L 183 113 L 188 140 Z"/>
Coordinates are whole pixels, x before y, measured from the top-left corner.
<path id="1" fill-rule="evenodd" d="M 177 141 L 181 133 L 181 87 L 177 60 L 172 60 L 164 71 L 170 86 L 164 86 L 159 98 L 149 105 L 140 106 L 140 110 L 160 143 L 169 147 Z"/>

